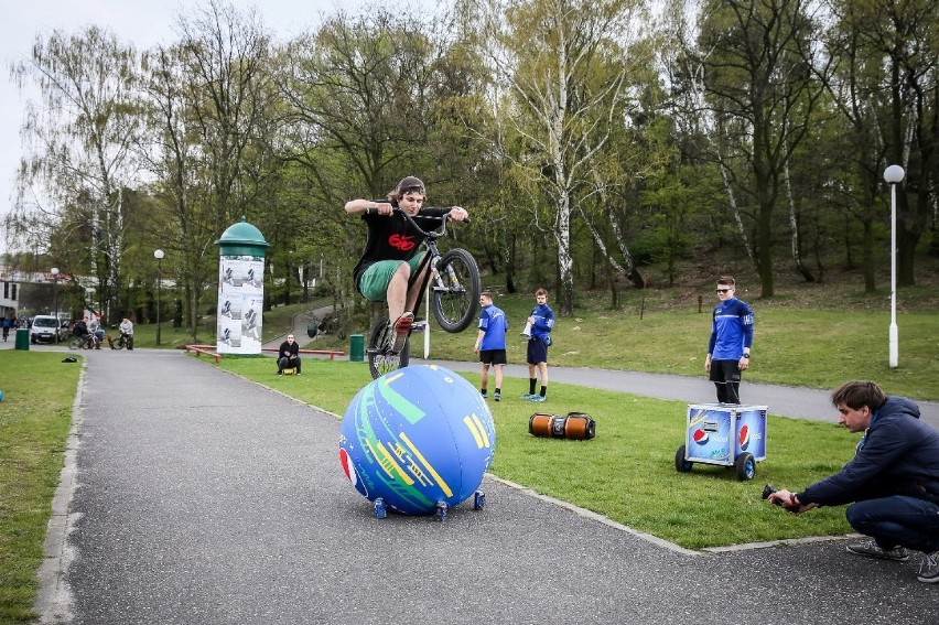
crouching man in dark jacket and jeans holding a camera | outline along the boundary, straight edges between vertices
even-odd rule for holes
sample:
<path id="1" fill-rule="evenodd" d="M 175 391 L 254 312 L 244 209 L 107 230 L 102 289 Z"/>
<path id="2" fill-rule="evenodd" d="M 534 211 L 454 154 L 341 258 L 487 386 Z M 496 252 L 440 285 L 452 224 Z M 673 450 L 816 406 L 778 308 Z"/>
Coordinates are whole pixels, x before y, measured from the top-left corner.
<path id="1" fill-rule="evenodd" d="M 939 583 L 939 432 L 919 420 L 916 403 L 887 397 L 872 381 L 843 385 L 831 402 L 840 424 L 864 432 L 854 459 L 805 491 L 780 488 L 767 500 L 796 514 L 851 504 L 848 522 L 873 540 L 849 545 L 849 551 L 884 560 L 921 551 L 917 579 Z"/>

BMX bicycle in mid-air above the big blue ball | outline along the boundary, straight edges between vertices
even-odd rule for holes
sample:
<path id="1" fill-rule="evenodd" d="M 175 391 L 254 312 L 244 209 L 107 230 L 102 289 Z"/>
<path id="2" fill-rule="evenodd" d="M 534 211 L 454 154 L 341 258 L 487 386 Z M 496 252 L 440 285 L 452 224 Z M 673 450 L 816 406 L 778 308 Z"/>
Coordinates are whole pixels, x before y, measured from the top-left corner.
<path id="1" fill-rule="evenodd" d="M 418 303 L 413 310 L 414 317 L 418 316 L 423 294 L 430 287 L 431 304 L 434 317 L 440 326 L 451 334 L 463 332 L 470 326 L 479 310 L 482 288 L 476 259 L 461 248 L 451 249 L 441 256 L 436 247 L 436 239 L 446 235 L 449 213 L 435 217 L 441 220 L 440 228 L 427 231 L 400 208 L 395 208 L 395 211 L 404 215 L 410 225 L 427 237 L 423 243 L 424 256 L 418 263 L 418 270 L 412 273 L 408 281 L 408 290 L 410 291 L 419 277 L 423 274 L 421 297 L 418 298 Z M 430 270 L 424 271 L 428 267 L 430 267 Z M 414 331 L 415 325 L 411 325 L 411 330 L 408 331 L 408 336 L 404 338 L 404 346 L 398 353 L 391 349 L 395 344 L 395 327 L 393 324 L 389 323 L 388 316 L 380 317 L 371 326 L 366 355 L 373 379 L 378 379 L 389 371 L 408 366 L 411 352 L 411 332 Z M 423 331 L 428 332 L 429 330 L 427 322 L 423 322 Z"/>

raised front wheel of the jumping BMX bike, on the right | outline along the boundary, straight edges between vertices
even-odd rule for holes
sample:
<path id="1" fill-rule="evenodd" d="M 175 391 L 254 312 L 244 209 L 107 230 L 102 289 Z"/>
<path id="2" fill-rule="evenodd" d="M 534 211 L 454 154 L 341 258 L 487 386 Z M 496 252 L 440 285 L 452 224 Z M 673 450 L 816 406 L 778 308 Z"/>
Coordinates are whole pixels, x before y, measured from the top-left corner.
<path id="1" fill-rule="evenodd" d="M 463 332 L 479 312 L 479 268 L 465 249 L 451 249 L 436 263 L 431 281 L 431 303 L 440 326 Z"/>

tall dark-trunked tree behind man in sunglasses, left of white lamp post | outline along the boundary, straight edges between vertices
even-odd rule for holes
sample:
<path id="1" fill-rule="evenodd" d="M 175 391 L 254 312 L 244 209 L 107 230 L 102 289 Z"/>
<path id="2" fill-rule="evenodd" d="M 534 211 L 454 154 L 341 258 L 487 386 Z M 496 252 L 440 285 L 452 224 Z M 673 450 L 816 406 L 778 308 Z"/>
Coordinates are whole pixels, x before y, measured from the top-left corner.
<path id="1" fill-rule="evenodd" d="M 773 213 L 781 177 L 823 93 L 812 74 L 810 9 L 807 0 L 713 0 L 705 4 L 699 34 L 695 61 L 708 107 L 723 131 L 717 142 L 744 168 L 737 173 L 733 161 L 722 158 L 722 174 L 736 174 L 736 187 L 756 207 L 763 297 L 775 291 Z"/>

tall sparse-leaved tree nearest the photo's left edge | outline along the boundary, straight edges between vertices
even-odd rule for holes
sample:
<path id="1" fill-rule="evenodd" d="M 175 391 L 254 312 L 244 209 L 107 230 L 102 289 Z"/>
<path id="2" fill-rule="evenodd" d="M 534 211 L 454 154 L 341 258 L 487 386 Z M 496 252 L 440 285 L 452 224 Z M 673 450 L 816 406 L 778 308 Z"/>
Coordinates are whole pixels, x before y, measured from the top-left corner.
<path id="1" fill-rule="evenodd" d="M 97 280 L 97 306 L 120 314 L 121 257 L 129 206 L 125 190 L 140 184 L 134 147 L 140 140 L 136 93 L 137 52 L 107 30 L 87 26 L 68 35 L 40 35 L 28 61 L 11 73 L 21 89 L 39 89 L 23 122 L 24 158 L 8 236 L 14 246 L 46 249 L 48 230 L 31 231 L 37 214 L 82 249 L 60 250 L 79 259 Z M 42 237 L 41 240 L 34 239 Z"/>

